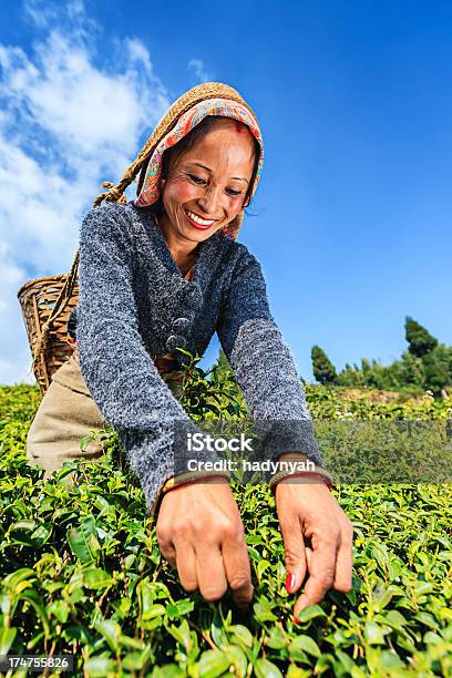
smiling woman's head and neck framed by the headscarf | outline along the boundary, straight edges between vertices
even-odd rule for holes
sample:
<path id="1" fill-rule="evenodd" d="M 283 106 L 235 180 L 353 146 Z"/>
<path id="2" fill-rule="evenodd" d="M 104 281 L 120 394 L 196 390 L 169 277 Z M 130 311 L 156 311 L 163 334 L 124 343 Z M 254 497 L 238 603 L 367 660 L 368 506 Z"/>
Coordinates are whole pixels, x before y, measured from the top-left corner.
<path id="1" fill-rule="evenodd" d="M 215 116 L 163 154 L 163 191 L 150 212 L 181 270 L 193 266 L 198 243 L 249 204 L 259 158 L 259 144 L 244 123 Z"/>

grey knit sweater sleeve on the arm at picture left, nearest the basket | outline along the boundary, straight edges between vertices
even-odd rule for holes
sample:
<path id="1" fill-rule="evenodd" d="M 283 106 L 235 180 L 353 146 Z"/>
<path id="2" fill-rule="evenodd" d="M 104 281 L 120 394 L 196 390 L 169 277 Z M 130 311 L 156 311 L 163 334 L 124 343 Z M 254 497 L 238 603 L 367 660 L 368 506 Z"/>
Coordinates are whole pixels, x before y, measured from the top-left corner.
<path id="1" fill-rule="evenodd" d="M 117 205 L 88 213 L 80 232 L 76 339 L 82 376 L 117 430 L 148 507 L 183 471 L 187 433 L 199 432 L 163 381 L 138 331 L 133 248 Z"/>

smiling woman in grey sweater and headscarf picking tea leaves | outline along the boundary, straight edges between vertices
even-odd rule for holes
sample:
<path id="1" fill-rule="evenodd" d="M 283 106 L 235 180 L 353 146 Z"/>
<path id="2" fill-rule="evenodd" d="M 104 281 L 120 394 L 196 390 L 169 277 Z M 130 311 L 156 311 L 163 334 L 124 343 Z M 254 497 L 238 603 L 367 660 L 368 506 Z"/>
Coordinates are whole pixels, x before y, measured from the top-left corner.
<path id="1" fill-rule="evenodd" d="M 260 265 L 236 242 L 263 166 L 259 126 L 235 90 L 206 83 L 171 106 L 151 140 L 122 182 L 95 203 L 109 204 L 83 220 L 80 367 L 74 355 L 55 373 L 43 402 L 54 387 L 69 384 L 68 393 L 83 396 L 92 404 L 90 423 L 101 420 L 119 431 L 151 511 L 158 508 L 161 552 L 184 588 L 216 600 L 229 586 L 236 603 L 247 605 L 250 567 L 228 479 L 176 472 L 186 433 L 197 427 L 165 379 L 186 359 L 178 348 L 203 355 L 216 331 L 251 417 L 294 423 L 289 433 L 275 429 L 273 458 L 316 464 L 309 483 L 284 472 L 271 482 L 289 593 L 299 589 L 307 571 L 310 575 L 297 615 L 331 586 L 350 590 L 352 527 L 330 493 Z M 137 198 L 119 203 L 138 173 Z M 71 320 L 75 325 L 74 315 Z M 38 439 L 34 433 L 29 441 L 34 463 L 43 459 Z M 76 448 L 76 438 L 73 443 Z"/>

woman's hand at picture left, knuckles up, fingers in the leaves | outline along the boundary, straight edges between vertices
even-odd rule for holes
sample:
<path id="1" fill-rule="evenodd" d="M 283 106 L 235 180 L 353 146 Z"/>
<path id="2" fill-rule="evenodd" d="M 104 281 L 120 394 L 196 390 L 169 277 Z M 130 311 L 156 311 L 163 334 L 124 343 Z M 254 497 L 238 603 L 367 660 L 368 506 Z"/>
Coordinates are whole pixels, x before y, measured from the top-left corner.
<path id="1" fill-rule="evenodd" d="M 217 600 L 228 586 L 239 607 L 253 598 L 245 531 L 226 479 L 203 479 L 167 492 L 156 524 L 161 553 L 187 592 Z"/>

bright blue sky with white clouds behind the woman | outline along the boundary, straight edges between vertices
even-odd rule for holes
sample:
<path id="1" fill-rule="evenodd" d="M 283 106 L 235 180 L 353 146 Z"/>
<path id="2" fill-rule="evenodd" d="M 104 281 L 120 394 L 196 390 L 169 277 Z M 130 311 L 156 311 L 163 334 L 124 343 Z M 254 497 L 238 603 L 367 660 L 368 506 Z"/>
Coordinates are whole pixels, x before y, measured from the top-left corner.
<path id="1" fill-rule="evenodd" d="M 239 239 L 300 374 L 314 343 L 338 369 L 388 364 L 407 315 L 452 343 L 451 19 L 441 1 L 3 1 L 0 172 L 16 184 L 0 206 L 0 382 L 29 368 L 17 288 L 69 270 L 100 182 L 203 80 L 236 88 L 261 124 Z"/>

